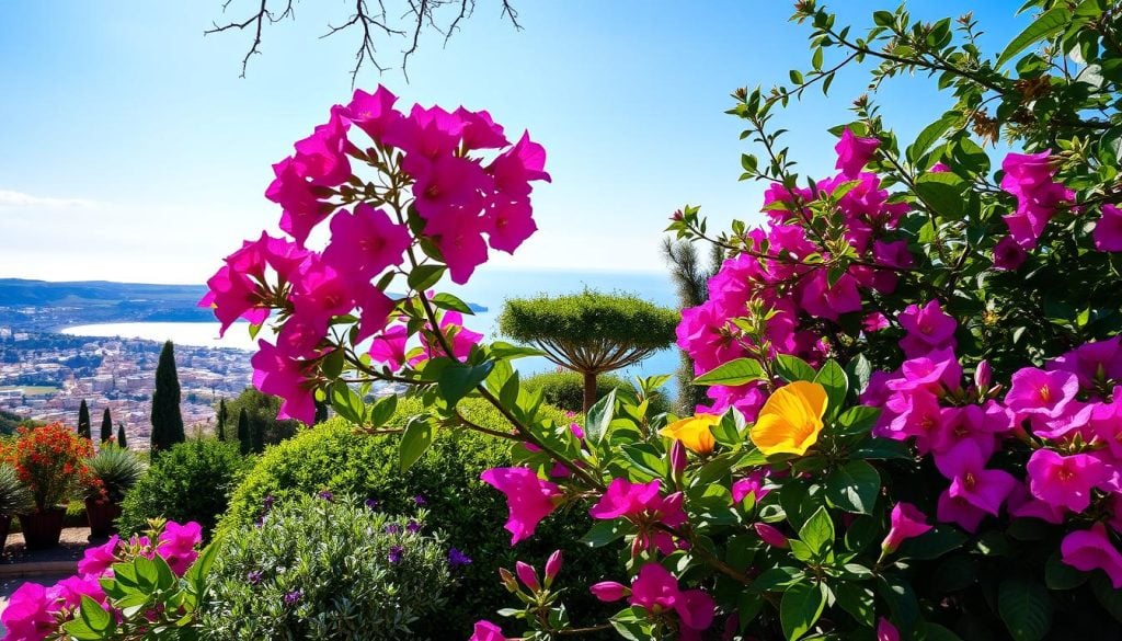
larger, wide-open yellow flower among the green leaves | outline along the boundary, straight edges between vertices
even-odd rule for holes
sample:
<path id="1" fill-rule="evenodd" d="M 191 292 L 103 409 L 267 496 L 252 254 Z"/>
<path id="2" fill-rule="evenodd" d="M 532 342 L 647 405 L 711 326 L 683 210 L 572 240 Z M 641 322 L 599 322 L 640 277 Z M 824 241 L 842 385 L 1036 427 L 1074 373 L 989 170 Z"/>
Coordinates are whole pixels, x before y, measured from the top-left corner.
<path id="1" fill-rule="evenodd" d="M 764 456 L 802 456 L 818 442 L 826 413 L 826 388 L 818 383 L 797 381 L 767 399 L 752 425 L 752 442 Z"/>

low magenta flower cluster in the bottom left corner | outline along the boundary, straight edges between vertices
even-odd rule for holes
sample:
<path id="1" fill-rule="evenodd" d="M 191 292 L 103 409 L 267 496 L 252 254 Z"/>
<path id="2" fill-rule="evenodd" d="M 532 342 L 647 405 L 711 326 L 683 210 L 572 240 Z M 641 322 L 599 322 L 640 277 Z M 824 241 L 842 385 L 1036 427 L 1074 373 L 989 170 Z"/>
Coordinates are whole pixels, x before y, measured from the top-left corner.
<path id="1" fill-rule="evenodd" d="M 159 555 L 176 576 L 183 576 L 197 558 L 201 541 L 202 528 L 194 522 L 181 525 L 168 521 L 155 543 L 148 537 L 122 541 L 114 534 L 104 544 L 85 550 L 77 562 L 76 575 L 53 586 L 37 583 L 19 586 L 3 614 L 0 614 L 0 623 L 8 630 L 4 639 L 42 641 L 56 634 L 63 623 L 76 616 L 83 596 L 113 612 L 114 607 L 108 602 L 100 583 L 100 579 L 113 576 L 113 564 L 138 556 L 151 559 Z"/>

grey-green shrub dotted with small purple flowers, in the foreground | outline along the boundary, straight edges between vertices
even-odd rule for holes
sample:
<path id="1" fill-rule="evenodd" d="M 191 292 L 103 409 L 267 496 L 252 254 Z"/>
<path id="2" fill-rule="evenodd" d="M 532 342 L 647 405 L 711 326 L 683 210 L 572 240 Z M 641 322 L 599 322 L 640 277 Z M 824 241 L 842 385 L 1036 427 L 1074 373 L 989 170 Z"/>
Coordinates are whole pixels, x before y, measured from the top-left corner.
<path id="1" fill-rule="evenodd" d="M 416 639 L 451 585 L 441 542 L 355 496 L 276 503 L 219 543 L 206 638 Z"/>

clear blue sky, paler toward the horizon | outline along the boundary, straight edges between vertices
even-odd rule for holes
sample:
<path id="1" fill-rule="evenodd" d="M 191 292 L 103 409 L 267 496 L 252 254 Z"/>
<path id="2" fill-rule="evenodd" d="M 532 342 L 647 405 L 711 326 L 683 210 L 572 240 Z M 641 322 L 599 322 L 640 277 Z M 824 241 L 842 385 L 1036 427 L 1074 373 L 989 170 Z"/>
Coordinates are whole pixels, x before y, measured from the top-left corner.
<path id="1" fill-rule="evenodd" d="M 231 16 L 252 4 L 233 0 Z M 862 26 L 892 8 L 836 4 Z M 975 10 L 991 52 L 1027 24 L 1013 17 L 1019 4 L 909 3 L 923 19 Z M 406 106 L 488 109 L 545 145 L 553 183 L 535 191 L 540 231 L 490 268 L 659 271 L 661 230 L 682 204 L 716 226 L 760 220 L 762 186 L 737 182 L 748 147 L 724 111 L 735 88 L 809 66 L 809 29 L 788 21 L 790 2 L 516 7 L 522 31 L 478 0 L 447 46 L 422 40 L 408 82 L 373 66 L 358 79 Z M 203 37 L 222 20 L 219 0 L 0 3 L 0 277 L 200 283 L 242 238 L 275 229 L 279 211 L 261 195 L 272 163 L 351 93 L 355 36 L 318 38 L 346 6 L 305 0 L 296 12 L 266 31 L 240 79 L 249 34 Z M 402 46 L 385 44 L 383 62 L 397 63 Z M 829 99 L 816 93 L 782 117 L 802 172 L 831 171 L 826 128 L 848 120 L 866 82 L 855 68 Z M 930 84 L 882 92 L 902 138 L 950 106 Z"/>

